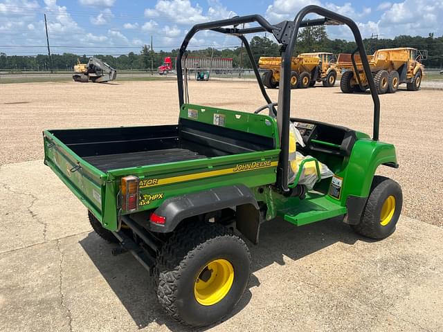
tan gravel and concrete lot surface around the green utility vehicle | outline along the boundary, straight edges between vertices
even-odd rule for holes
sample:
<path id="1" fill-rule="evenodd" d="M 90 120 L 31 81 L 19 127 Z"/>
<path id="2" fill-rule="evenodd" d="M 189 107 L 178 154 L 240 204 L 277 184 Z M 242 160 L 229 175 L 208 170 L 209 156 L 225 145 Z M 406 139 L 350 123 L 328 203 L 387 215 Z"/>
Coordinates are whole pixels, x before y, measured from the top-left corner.
<path id="1" fill-rule="evenodd" d="M 189 85 L 195 104 L 240 111 L 264 104 L 253 82 Z M 183 331 L 156 304 L 143 267 L 129 254 L 111 256 L 86 208 L 42 163 L 43 129 L 175 123 L 176 86 L 0 86 L 1 331 Z M 372 132 L 368 94 L 343 94 L 338 86 L 292 92 L 292 116 Z M 277 100 L 277 90 L 268 93 Z M 339 220 L 302 228 L 265 223 L 260 245 L 250 245 L 246 295 L 210 330 L 443 329 L 443 91 L 401 87 L 380 98 L 380 138 L 395 144 L 400 168 L 379 174 L 404 190 L 397 232 L 371 242 Z"/>

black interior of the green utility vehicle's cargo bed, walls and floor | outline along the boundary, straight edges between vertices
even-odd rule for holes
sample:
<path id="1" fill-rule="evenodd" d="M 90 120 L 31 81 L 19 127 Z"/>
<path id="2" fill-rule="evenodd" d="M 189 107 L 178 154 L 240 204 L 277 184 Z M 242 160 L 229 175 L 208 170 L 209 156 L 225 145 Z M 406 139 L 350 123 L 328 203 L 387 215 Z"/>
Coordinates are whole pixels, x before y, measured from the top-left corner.
<path id="1" fill-rule="evenodd" d="M 275 149 L 273 138 L 187 119 L 175 125 L 51 133 L 102 172 Z"/>

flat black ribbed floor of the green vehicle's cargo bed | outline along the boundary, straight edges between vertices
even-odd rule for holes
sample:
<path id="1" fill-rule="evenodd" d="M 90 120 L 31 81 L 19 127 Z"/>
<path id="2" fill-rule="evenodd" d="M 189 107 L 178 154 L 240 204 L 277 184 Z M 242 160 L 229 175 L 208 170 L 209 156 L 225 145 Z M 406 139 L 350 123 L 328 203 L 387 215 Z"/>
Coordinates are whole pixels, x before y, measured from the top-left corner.
<path id="1" fill-rule="evenodd" d="M 125 154 L 105 154 L 102 156 L 88 156 L 83 159 L 97 167 L 102 172 L 111 169 L 147 166 L 176 161 L 206 158 L 195 151 L 188 149 L 165 149 L 154 151 L 130 152 Z"/>

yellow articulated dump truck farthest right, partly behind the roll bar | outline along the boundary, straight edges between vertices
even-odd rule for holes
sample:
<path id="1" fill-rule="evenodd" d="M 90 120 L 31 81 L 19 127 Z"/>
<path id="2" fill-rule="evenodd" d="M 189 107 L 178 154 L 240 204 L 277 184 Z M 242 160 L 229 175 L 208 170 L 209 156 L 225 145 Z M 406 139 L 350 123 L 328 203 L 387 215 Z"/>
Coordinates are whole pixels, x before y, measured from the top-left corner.
<path id="1" fill-rule="evenodd" d="M 424 75 L 422 60 L 426 57 L 426 50 L 410 47 L 385 48 L 368 55 L 377 93 L 395 93 L 402 83 L 406 83 L 408 91 L 419 90 Z M 338 55 L 336 68 L 338 71 L 344 71 L 340 82 L 341 91 L 344 93 L 363 92 L 368 89 L 368 81 L 358 54 L 354 56 L 354 62 L 355 64 L 352 64 L 352 55 L 349 53 Z"/>

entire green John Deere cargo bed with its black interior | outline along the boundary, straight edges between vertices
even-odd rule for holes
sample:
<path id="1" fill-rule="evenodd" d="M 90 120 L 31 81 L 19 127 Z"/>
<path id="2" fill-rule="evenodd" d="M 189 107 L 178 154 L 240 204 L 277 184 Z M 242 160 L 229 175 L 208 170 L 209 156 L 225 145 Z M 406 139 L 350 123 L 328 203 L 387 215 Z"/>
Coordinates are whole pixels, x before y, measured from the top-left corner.
<path id="1" fill-rule="evenodd" d="M 277 130 L 269 116 L 186 104 L 178 124 L 44 131 L 45 163 L 114 230 L 127 213 L 124 176 L 140 178 L 139 211 L 213 187 L 274 183 Z"/>

